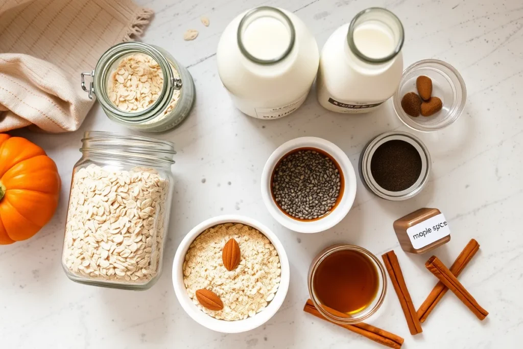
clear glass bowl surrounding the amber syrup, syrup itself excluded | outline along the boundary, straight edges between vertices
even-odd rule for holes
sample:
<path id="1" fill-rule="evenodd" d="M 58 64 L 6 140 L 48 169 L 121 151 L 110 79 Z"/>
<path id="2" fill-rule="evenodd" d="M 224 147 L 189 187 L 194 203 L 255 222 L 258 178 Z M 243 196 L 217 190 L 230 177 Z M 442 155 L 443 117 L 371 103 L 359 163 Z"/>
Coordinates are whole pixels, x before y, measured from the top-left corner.
<path id="1" fill-rule="evenodd" d="M 329 255 L 342 251 L 342 250 L 350 250 L 350 251 L 356 251 L 361 253 L 362 255 L 366 256 L 369 261 L 372 263 L 372 265 L 376 268 L 376 271 L 378 273 L 378 292 L 376 293 L 376 297 L 372 300 L 372 302 L 365 308 L 361 309 L 358 312 L 352 313 L 350 315 L 343 314 L 343 317 L 340 316 L 341 314 L 338 311 L 329 312 L 328 310 L 330 308 L 324 307 L 322 305 L 321 300 L 318 299 L 316 296 L 316 292 L 314 291 L 314 276 L 315 273 L 319 267 L 319 265 L 325 260 L 326 257 Z M 383 301 L 385 300 L 385 294 L 387 291 L 387 279 L 385 276 L 385 268 L 381 264 L 381 262 L 378 260 L 378 258 L 373 255 L 370 251 L 363 249 L 363 247 L 355 246 L 355 245 L 347 245 L 347 244 L 336 244 L 329 247 L 326 247 L 323 251 L 321 251 L 319 254 L 314 257 L 314 260 L 312 261 L 311 267 L 309 268 L 309 278 L 308 278 L 308 285 L 309 285 L 309 294 L 311 297 L 312 302 L 314 303 L 314 307 L 328 320 L 339 323 L 339 324 L 354 324 L 358 322 L 362 322 L 365 319 L 368 319 L 371 316 L 377 316 L 377 312 L 380 309 L 380 307 L 383 305 Z"/>

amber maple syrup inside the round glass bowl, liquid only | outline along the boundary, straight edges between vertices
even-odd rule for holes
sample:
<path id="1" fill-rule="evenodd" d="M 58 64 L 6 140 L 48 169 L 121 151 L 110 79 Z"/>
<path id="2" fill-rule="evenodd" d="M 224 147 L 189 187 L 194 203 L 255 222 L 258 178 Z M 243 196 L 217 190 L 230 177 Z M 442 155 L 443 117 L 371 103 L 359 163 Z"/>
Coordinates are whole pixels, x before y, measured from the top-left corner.
<path id="1" fill-rule="evenodd" d="M 367 308 L 376 298 L 379 275 L 365 254 L 339 250 L 320 262 L 312 286 L 321 305 L 351 315 Z"/>

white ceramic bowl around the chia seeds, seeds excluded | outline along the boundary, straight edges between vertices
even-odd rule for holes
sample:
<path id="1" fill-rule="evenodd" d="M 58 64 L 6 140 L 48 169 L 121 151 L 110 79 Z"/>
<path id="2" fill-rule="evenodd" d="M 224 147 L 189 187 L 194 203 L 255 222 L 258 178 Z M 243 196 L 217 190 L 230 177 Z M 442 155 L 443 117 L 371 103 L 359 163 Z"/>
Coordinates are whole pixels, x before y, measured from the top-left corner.
<path id="1" fill-rule="evenodd" d="M 344 179 L 344 189 L 338 205 L 328 215 L 317 220 L 297 220 L 287 216 L 276 205 L 271 193 L 271 176 L 278 161 L 289 152 L 298 148 L 316 148 L 331 155 L 341 168 Z M 282 226 L 300 233 L 317 233 L 338 224 L 353 206 L 356 197 L 356 174 L 354 167 L 343 150 L 336 144 L 317 137 L 300 137 L 283 143 L 276 149 L 265 164 L 261 174 L 261 197 L 270 214 Z"/>

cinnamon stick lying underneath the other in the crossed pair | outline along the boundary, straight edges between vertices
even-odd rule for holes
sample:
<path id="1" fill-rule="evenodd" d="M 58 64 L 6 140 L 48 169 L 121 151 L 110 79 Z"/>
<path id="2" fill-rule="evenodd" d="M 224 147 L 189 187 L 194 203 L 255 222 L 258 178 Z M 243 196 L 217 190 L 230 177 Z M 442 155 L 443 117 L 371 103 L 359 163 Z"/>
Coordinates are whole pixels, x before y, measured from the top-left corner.
<path id="1" fill-rule="evenodd" d="M 449 269 L 450 272 L 454 276 L 458 277 L 479 249 L 480 244 L 477 243 L 476 240 L 471 239 L 463 251 L 461 251 L 458 258 L 456 258 L 456 261 L 452 263 L 452 266 Z M 443 298 L 448 290 L 448 287 L 445 286 L 445 284 L 441 281 L 439 281 L 436 286 L 434 286 L 432 291 L 430 291 L 430 294 L 427 296 L 417 311 L 417 316 L 420 322 L 423 323 L 425 320 L 427 320 L 430 312 L 434 310 L 438 302 L 441 300 L 441 298 Z"/>

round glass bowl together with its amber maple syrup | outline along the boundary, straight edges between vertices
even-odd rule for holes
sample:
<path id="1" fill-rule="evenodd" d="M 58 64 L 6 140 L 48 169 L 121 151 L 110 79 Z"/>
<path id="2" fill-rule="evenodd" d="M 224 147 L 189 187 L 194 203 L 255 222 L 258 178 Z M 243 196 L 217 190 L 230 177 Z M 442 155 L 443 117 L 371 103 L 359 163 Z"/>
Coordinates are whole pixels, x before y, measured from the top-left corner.
<path id="1" fill-rule="evenodd" d="M 309 294 L 314 307 L 339 324 L 362 322 L 382 306 L 387 289 L 385 268 L 363 247 L 326 247 L 309 269 Z"/>

